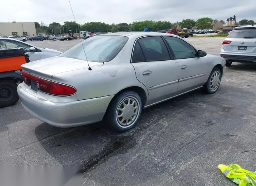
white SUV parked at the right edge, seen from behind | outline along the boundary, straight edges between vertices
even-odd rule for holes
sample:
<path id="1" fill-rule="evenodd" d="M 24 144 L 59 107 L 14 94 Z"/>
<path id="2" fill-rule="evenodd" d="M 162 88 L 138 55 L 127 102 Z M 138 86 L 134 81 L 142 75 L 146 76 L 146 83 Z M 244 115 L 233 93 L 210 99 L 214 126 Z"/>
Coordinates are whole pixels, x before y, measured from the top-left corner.
<path id="1" fill-rule="evenodd" d="M 238 26 L 222 42 L 220 56 L 226 59 L 226 66 L 232 62 L 256 62 L 256 26 Z"/>

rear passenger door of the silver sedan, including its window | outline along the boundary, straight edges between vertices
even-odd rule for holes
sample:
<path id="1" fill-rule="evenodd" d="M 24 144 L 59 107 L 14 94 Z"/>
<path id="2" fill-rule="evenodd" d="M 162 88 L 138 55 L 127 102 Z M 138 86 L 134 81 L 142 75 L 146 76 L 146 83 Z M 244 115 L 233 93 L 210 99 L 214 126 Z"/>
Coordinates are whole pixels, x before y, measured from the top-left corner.
<path id="1" fill-rule="evenodd" d="M 178 63 L 166 45 L 162 36 L 142 37 L 134 45 L 132 65 L 148 89 L 148 105 L 172 97 L 178 88 Z"/>

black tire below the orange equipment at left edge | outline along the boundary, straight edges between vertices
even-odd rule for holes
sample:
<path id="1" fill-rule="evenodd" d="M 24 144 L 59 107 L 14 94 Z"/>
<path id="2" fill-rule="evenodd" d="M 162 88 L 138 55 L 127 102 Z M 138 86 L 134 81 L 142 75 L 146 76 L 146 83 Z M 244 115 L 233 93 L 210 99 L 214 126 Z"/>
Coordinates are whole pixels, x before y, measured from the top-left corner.
<path id="1" fill-rule="evenodd" d="M 0 80 L 0 107 L 14 105 L 19 100 L 17 83 L 13 80 Z"/>

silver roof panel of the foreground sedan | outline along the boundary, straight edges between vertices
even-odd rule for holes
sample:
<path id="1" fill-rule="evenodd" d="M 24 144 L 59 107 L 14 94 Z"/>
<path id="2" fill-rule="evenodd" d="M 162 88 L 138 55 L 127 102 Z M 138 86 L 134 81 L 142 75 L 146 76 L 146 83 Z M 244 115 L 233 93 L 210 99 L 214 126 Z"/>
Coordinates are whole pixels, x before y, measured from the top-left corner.
<path id="1" fill-rule="evenodd" d="M 115 32 L 115 33 L 108 33 L 108 34 L 100 34 L 98 36 L 126 36 L 128 38 L 139 38 L 142 36 L 152 36 L 152 35 L 178 37 L 174 34 L 167 34 L 162 32 Z"/>

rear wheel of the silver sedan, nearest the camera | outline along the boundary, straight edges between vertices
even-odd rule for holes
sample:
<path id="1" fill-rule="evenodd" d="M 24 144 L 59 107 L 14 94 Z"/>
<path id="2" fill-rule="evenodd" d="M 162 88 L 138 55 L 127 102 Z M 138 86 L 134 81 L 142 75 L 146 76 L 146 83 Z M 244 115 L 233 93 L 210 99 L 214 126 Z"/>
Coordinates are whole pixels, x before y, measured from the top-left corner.
<path id="1" fill-rule="evenodd" d="M 138 123 L 142 108 L 142 100 L 138 93 L 123 92 L 110 103 L 108 123 L 117 133 L 129 131 Z"/>

